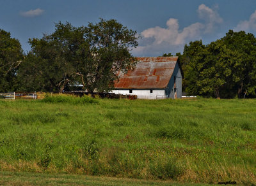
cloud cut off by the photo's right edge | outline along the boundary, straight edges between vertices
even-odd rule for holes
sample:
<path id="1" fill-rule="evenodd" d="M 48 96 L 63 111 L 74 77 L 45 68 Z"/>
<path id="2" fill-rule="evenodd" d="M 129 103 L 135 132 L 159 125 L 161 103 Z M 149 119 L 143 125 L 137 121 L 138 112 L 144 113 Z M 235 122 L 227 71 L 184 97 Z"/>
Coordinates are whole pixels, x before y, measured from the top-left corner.
<path id="1" fill-rule="evenodd" d="M 252 13 L 249 20 L 244 20 L 237 24 L 235 31 L 256 31 L 256 10 Z"/>

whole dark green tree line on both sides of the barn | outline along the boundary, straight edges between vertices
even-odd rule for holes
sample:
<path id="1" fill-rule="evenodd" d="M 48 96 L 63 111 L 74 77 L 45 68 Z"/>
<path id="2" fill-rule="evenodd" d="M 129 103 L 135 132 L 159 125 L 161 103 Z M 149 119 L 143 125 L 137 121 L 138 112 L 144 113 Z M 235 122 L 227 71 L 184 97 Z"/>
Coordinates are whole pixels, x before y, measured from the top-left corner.
<path id="1" fill-rule="evenodd" d="M 0 92 L 113 89 L 118 71 L 136 65 L 131 48 L 138 35 L 116 20 L 74 27 L 58 22 L 52 34 L 29 39 L 24 54 L 17 39 L 0 29 Z M 188 95 L 256 97 L 256 38 L 244 31 L 204 45 L 191 41 L 177 53 L 184 72 L 182 89 Z M 171 53 L 163 56 L 173 56 Z"/>

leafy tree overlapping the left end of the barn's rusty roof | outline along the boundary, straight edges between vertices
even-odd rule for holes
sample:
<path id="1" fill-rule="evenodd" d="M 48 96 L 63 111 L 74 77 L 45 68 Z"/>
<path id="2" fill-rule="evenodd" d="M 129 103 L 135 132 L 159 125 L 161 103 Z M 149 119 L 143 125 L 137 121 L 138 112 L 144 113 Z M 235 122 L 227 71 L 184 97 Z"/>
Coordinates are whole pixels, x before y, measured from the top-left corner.
<path id="1" fill-rule="evenodd" d="M 130 51 L 138 46 L 137 32 L 116 20 L 102 18 L 99 23 L 90 23 L 84 29 L 84 38 L 90 46 L 89 56 L 81 60 L 79 66 L 84 88 L 88 92 L 95 89 L 108 92 L 113 89 L 114 81 L 118 80 L 118 72 L 127 73 L 136 64 Z"/>

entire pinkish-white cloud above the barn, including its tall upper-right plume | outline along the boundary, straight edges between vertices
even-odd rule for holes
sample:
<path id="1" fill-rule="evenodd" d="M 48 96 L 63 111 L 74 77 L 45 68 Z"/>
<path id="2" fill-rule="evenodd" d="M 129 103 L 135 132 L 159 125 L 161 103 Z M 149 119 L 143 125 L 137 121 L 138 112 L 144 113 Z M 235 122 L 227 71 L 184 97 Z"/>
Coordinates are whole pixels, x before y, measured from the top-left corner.
<path id="1" fill-rule="evenodd" d="M 185 43 L 201 39 L 202 35 L 213 32 L 216 25 L 221 24 L 223 19 L 211 8 L 201 4 L 198 6 L 199 18 L 204 20 L 204 24 L 196 22 L 194 24 L 179 29 L 179 21 L 170 18 L 166 22 L 166 28 L 152 27 L 141 32 L 142 39 L 139 47 L 132 52 L 134 55 L 161 55 L 164 52 L 180 52 Z"/>

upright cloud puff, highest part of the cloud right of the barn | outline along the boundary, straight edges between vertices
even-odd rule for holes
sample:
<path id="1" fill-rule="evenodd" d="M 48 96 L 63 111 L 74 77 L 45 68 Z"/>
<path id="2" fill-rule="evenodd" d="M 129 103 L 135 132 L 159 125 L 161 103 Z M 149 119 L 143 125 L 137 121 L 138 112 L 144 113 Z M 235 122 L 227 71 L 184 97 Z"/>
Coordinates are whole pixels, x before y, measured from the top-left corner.
<path id="1" fill-rule="evenodd" d="M 223 19 L 220 17 L 217 11 L 212 10 L 205 4 L 198 6 L 198 15 L 199 18 L 205 20 L 205 33 L 214 31 L 215 26 L 221 24 Z"/>

